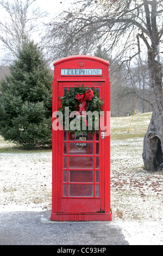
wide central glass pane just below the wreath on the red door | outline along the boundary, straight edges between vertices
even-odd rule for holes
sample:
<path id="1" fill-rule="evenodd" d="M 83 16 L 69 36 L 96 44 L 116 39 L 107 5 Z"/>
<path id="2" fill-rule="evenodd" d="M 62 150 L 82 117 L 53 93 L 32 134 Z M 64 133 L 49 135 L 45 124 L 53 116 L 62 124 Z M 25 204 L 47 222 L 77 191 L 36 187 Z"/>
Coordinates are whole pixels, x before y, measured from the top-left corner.
<path id="1" fill-rule="evenodd" d="M 80 139 L 80 138 L 79 138 Z M 70 155 L 93 155 L 93 143 L 70 143 L 69 144 Z"/>

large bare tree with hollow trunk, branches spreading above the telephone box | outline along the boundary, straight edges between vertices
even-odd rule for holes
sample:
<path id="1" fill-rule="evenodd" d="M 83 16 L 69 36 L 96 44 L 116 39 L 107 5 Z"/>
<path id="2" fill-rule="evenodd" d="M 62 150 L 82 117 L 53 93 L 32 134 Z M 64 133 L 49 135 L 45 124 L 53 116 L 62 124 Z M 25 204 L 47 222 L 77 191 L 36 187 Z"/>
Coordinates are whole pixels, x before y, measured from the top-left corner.
<path id="1" fill-rule="evenodd" d="M 70 54 L 90 54 L 98 44 L 121 62 L 131 62 L 147 54 L 153 115 L 143 144 L 147 170 L 163 164 L 162 43 L 163 0 L 76 0 L 74 8 L 64 11 L 49 24 L 49 47 L 53 59 Z M 48 44 L 47 44 L 48 45 Z M 56 47 L 57 46 L 57 47 Z"/>

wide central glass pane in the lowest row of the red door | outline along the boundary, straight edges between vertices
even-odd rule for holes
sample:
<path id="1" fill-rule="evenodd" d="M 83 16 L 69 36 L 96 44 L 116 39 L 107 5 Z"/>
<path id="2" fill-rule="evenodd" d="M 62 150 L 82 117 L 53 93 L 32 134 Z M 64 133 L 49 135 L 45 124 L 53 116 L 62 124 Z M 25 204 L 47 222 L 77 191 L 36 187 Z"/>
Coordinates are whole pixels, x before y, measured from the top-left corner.
<path id="1" fill-rule="evenodd" d="M 68 196 L 70 197 L 93 197 L 93 185 L 69 184 Z"/>

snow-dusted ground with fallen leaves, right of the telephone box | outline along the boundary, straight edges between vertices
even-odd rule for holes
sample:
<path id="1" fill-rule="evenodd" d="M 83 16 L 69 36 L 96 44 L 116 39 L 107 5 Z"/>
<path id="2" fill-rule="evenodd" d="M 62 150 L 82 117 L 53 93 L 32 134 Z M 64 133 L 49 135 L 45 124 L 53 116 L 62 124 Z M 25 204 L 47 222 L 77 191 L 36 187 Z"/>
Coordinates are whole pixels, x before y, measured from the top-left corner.
<path id="1" fill-rule="evenodd" d="M 130 245 L 163 245 L 163 172 L 143 169 L 142 142 L 111 143 L 112 217 Z"/>

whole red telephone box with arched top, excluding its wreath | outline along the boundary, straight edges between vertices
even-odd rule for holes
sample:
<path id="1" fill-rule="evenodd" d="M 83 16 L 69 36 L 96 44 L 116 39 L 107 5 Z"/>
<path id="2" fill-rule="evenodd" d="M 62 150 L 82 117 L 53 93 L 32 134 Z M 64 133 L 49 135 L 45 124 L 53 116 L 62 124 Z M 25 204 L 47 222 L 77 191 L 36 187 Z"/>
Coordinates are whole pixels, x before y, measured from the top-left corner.
<path id="1" fill-rule="evenodd" d="M 83 84 L 95 88 L 104 113 L 110 112 L 109 62 L 84 55 L 54 62 L 53 113 L 69 88 Z M 106 115 L 104 119 L 106 123 Z M 79 136 L 53 129 L 52 135 L 51 220 L 111 221 L 110 135 L 101 129 Z"/>

